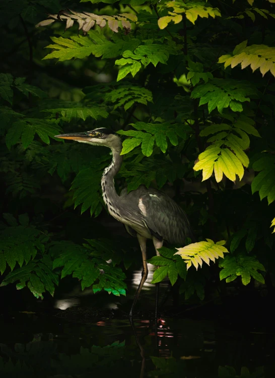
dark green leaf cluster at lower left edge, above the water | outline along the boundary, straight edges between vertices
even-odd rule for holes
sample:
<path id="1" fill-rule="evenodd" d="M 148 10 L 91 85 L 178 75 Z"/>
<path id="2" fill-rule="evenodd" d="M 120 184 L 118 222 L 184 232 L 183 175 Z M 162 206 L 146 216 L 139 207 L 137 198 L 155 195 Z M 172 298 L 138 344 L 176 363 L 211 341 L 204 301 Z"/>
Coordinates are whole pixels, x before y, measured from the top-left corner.
<path id="1" fill-rule="evenodd" d="M 46 233 L 29 225 L 28 214 L 21 214 L 17 220 L 12 214 L 4 214 L 10 225 L 1 233 L 0 272 L 4 274 L 7 265 L 11 272 L 0 286 L 17 283 L 18 290 L 28 287 L 36 298 L 43 299 L 43 293 L 54 294 L 58 276 L 53 272 L 52 260 L 45 252 Z M 15 268 L 16 265 L 20 267 Z"/>

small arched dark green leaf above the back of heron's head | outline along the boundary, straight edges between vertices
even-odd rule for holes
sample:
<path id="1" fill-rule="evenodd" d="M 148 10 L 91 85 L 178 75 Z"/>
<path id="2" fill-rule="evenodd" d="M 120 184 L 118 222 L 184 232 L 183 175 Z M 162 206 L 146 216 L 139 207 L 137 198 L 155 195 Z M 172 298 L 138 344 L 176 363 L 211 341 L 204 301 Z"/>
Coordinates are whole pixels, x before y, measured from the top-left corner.
<path id="1" fill-rule="evenodd" d="M 114 103 L 114 110 L 123 106 L 128 110 L 135 102 L 147 105 L 147 102 L 153 102 L 152 92 L 146 88 L 137 86 L 121 85 L 118 89 L 113 89 L 106 94 L 105 100 Z"/>

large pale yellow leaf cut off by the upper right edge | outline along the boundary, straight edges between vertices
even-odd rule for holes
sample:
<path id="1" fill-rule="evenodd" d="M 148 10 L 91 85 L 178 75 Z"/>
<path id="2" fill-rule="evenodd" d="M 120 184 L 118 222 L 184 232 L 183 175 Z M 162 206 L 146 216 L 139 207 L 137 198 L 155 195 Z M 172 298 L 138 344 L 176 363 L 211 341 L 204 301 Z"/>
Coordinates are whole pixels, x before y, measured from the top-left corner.
<path id="1" fill-rule="evenodd" d="M 223 55 L 219 59 L 219 63 L 224 63 L 225 68 L 231 66 L 236 67 L 241 63 L 242 70 L 248 66 L 254 72 L 258 68 L 262 76 L 270 71 L 275 76 L 275 48 L 268 47 L 264 44 L 253 44 L 247 46 L 247 40 L 238 44 L 233 54 Z"/>

